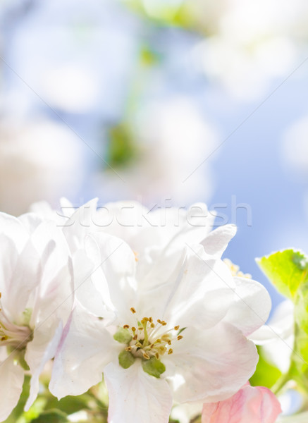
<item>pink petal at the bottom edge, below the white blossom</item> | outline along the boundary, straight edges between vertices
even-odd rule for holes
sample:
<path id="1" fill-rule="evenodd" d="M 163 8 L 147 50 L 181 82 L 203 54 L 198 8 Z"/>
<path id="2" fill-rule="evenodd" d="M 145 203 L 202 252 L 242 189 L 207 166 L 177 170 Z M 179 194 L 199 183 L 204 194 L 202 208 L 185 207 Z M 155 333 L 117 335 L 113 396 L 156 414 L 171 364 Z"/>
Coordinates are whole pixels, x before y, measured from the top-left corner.
<path id="1" fill-rule="evenodd" d="M 276 396 L 262 386 L 243 386 L 228 400 L 203 405 L 202 423 L 274 423 L 281 413 Z"/>

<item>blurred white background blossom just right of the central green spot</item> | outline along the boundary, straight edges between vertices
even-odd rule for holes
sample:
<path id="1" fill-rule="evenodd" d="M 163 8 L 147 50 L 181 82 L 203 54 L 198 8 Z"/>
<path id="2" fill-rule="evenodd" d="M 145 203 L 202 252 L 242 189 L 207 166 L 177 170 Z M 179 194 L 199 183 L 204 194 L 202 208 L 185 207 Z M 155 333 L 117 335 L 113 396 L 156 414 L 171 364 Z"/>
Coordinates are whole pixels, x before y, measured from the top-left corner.
<path id="1" fill-rule="evenodd" d="M 210 197 L 214 181 L 209 164 L 205 170 L 192 171 L 200 158 L 214 151 L 218 133 L 193 102 L 180 96 L 149 102 L 130 125 L 136 158 L 119 170 L 122 179 L 111 170 L 99 173 L 95 185 L 102 194 L 111 190 L 125 198 L 142 195 L 146 204 L 166 198 L 179 204 Z"/>

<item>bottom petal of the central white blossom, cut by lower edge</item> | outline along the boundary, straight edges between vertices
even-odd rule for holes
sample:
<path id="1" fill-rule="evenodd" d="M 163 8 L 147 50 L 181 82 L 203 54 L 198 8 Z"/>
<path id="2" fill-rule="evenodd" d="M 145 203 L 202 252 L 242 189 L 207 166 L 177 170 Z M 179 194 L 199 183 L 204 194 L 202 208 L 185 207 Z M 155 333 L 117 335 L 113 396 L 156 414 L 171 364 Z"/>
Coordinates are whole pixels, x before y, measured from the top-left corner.
<path id="1" fill-rule="evenodd" d="M 128 369 L 109 363 L 104 379 L 109 391 L 109 423 L 168 422 L 170 387 L 166 380 L 145 373 L 140 360 Z"/>

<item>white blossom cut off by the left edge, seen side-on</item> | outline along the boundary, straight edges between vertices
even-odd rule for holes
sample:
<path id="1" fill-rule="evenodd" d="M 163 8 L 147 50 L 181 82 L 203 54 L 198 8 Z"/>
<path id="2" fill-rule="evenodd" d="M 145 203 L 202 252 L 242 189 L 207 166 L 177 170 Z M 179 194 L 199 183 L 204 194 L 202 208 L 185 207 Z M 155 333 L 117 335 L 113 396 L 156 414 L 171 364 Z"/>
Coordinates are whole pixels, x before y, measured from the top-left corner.
<path id="1" fill-rule="evenodd" d="M 56 352 L 73 306 L 73 276 L 61 231 L 41 223 L 29 233 L 0 214 L 0 420 L 10 415 L 31 375 L 26 410 L 39 391 L 39 374 Z"/>

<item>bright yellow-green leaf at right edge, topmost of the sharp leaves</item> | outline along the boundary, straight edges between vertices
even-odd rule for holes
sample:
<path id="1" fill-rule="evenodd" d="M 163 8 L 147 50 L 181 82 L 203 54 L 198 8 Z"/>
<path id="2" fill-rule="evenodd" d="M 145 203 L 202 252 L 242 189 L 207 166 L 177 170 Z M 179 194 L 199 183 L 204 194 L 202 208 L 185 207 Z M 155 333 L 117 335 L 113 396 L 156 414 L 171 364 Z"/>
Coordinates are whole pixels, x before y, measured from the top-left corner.
<path id="1" fill-rule="evenodd" d="M 295 300 L 299 288 L 308 281 L 308 260 L 300 251 L 278 251 L 257 259 L 257 263 L 278 291 L 290 300 Z"/>

